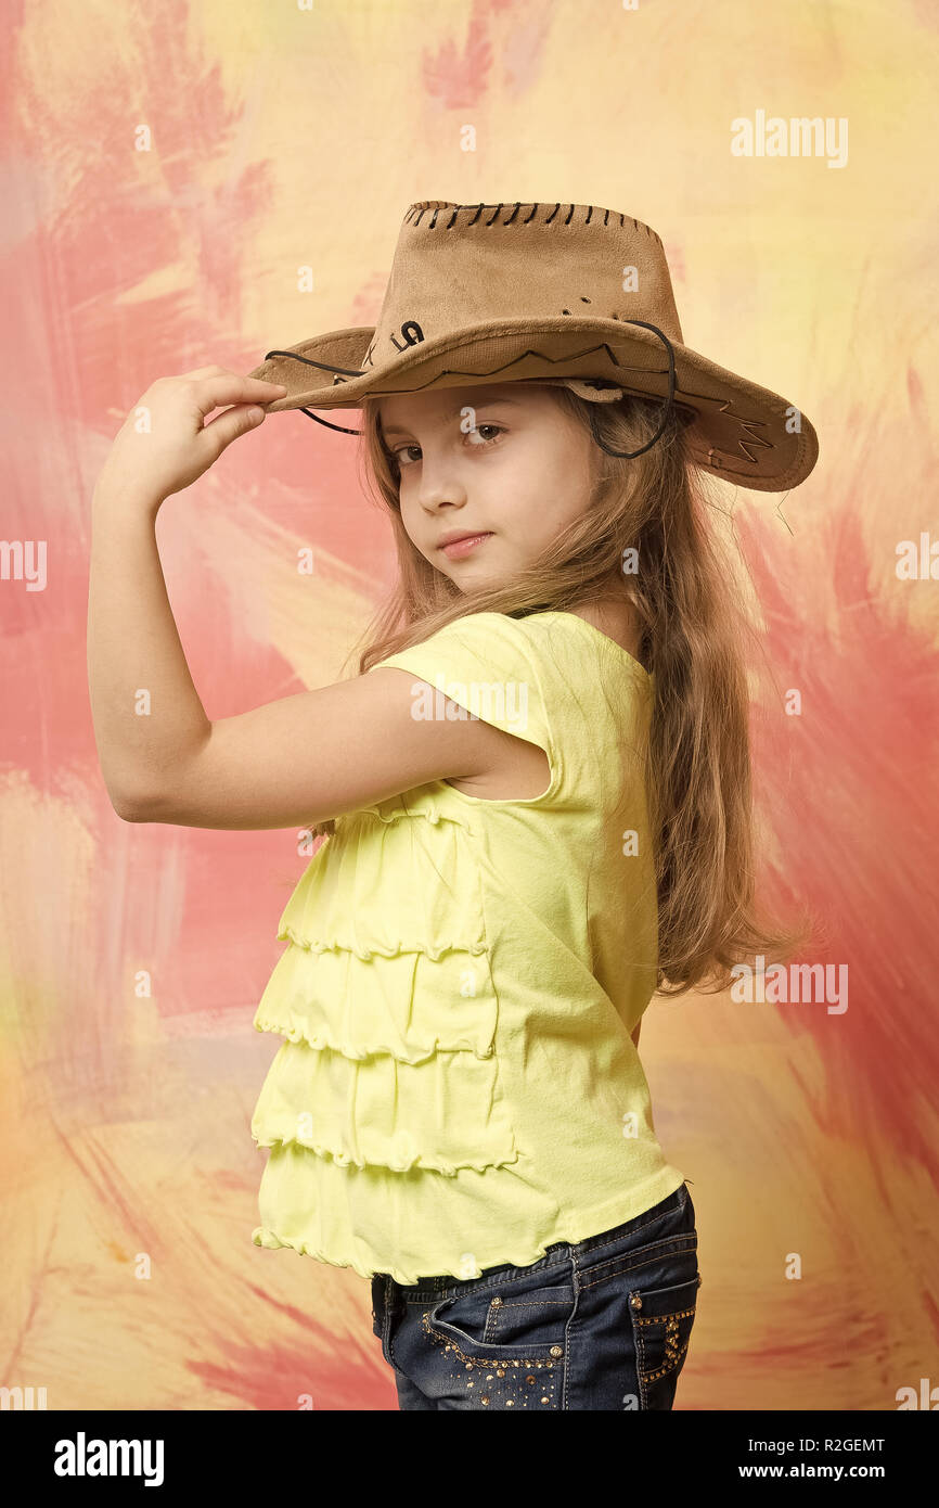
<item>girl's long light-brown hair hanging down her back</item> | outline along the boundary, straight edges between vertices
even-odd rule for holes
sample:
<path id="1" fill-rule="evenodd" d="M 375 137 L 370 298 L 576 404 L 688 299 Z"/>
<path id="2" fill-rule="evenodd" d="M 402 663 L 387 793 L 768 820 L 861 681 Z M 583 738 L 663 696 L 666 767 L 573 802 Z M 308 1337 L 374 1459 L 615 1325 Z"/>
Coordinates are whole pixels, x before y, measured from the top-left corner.
<path id="1" fill-rule="evenodd" d="M 660 404 L 642 398 L 598 404 L 567 388 L 546 391 L 594 442 L 616 451 L 639 449 L 662 422 Z M 778 929 L 757 909 L 743 654 L 743 644 L 757 641 L 733 585 L 733 556 L 708 523 L 708 510 L 714 519 L 723 511 L 690 458 L 687 413 L 672 410 L 662 439 L 633 460 L 594 443 L 589 507 L 511 584 L 472 593 L 460 591 L 408 538 L 398 463 L 375 400 L 365 400 L 362 419 L 360 480 L 390 517 L 398 584 L 359 641 L 365 647 L 353 650 L 359 674 L 467 612 L 568 612 L 609 597 L 616 579 L 641 627 L 638 657 L 656 677 L 645 783 L 659 899 L 657 988 L 665 995 L 726 989 L 736 964 L 752 967 L 755 955 L 779 962 L 799 950 L 811 935 L 805 914 L 794 929 Z M 638 552 L 633 575 L 622 572 L 627 547 Z M 314 829 L 332 831 L 333 822 Z"/>

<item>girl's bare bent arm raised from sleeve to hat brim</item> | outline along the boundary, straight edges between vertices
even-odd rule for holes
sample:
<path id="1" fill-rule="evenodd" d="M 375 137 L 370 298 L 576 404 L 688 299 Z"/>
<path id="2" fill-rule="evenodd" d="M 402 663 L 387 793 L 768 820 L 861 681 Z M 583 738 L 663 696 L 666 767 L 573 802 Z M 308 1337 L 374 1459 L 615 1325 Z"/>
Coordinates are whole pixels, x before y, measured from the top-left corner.
<path id="1" fill-rule="evenodd" d="M 256 394 L 246 394 L 249 380 L 234 374 L 193 379 L 199 374 L 154 385 L 137 410 L 151 415 L 149 428 L 133 439 L 122 431 L 92 502 L 89 691 L 118 814 L 202 828 L 314 826 L 431 780 L 497 768 L 506 745 L 518 742 L 512 734 L 466 716 L 414 718 L 414 679 L 393 668 L 210 722 L 166 594 L 155 519 L 163 499 L 179 490 L 167 483 L 194 480 L 188 446 L 200 445 L 199 436 L 223 419 L 226 443 L 247 428 L 244 407 L 205 427 L 203 413 Z M 185 445 L 181 383 L 197 410 Z M 268 383 L 249 386 L 270 401 Z M 216 454 L 222 439 L 216 436 Z"/>

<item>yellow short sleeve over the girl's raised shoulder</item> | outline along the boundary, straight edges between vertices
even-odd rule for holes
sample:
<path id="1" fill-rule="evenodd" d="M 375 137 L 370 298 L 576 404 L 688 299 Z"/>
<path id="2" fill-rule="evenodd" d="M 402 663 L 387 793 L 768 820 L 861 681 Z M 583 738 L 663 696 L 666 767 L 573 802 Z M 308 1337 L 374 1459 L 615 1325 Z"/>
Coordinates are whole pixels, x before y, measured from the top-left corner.
<path id="1" fill-rule="evenodd" d="M 556 793 L 562 781 L 561 751 L 546 706 L 537 650 L 515 618 L 500 612 L 467 614 L 445 624 L 424 644 L 378 661 L 369 671 L 383 668 L 410 671 L 440 695 L 442 706 L 445 698 L 455 701 L 482 722 L 537 743 L 547 754 L 552 778 L 535 801 L 550 801 Z M 430 692 L 428 700 L 434 706 Z"/>

